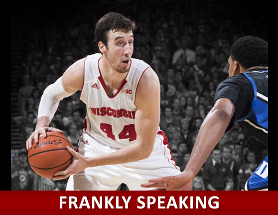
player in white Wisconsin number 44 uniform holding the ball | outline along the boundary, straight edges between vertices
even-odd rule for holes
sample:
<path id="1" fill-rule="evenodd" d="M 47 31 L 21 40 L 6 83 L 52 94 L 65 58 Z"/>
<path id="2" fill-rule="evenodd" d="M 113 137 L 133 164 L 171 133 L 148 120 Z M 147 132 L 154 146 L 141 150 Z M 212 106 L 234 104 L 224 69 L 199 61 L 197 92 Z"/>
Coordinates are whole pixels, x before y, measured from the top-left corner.
<path id="1" fill-rule="evenodd" d="M 104 15 L 95 29 L 101 53 L 73 63 L 42 95 L 27 150 L 39 134 L 63 132 L 49 127 L 61 99 L 80 90 L 87 105 L 78 152 L 67 148 L 73 162 L 53 177 L 69 177 L 66 190 L 116 190 L 122 183 L 129 190 L 151 190 L 140 184 L 180 174 L 159 129 L 159 79 L 148 64 L 131 58 L 135 28 L 119 13 Z"/>

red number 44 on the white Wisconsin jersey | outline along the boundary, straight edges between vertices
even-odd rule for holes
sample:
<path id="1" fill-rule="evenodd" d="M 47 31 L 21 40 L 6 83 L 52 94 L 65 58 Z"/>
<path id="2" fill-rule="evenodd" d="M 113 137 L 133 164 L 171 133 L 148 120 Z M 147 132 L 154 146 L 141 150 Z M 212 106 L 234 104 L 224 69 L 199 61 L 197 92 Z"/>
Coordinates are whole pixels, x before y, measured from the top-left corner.
<path id="1" fill-rule="evenodd" d="M 116 141 L 115 135 L 113 134 L 112 125 L 107 123 L 101 123 L 100 129 L 107 134 L 107 137 Z M 136 131 L 134 124 L 125 125 L 118 136 L 119 139 L 129 139 L 130 142 L 136 140 Z"/>

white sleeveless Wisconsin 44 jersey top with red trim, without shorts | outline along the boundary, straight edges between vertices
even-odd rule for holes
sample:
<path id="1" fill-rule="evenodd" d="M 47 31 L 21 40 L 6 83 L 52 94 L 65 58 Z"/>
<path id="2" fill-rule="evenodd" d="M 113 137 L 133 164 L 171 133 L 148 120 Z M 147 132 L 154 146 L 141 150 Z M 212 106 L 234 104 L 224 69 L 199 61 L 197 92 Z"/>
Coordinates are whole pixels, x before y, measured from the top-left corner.
<path id="1" fill-rule="evenodd" d="M 123 84 L 109 97 L 99 69 L 102 54 L 88 55 L 84 64 L 84 83 L 80 99 L 87 105 L 84 129 L 97 142 L 123 148 L 136 142 L 136 89 L 144 71 L 150 67 L 131 58 L 131 66 Z"/>

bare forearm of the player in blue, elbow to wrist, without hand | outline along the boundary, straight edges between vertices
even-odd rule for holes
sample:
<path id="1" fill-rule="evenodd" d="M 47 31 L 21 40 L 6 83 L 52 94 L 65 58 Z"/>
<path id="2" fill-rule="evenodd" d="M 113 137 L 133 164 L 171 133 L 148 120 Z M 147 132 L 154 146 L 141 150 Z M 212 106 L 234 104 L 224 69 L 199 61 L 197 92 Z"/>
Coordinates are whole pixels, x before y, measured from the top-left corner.
<path id="1" fill-rule="evenodd" d="M 202 123 L 184 171 L 191 171 L 194 176 L 198 174 L 211 151 L 222 138 L 232 116 L 222 109 L 212 109 L 209 112 Z"/>

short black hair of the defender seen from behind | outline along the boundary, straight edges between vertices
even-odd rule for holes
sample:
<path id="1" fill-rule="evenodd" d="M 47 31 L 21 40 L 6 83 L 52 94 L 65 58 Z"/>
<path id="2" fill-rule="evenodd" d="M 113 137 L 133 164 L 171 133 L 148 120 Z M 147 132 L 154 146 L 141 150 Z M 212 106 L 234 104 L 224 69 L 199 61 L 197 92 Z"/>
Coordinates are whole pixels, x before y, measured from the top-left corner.
<path id="1" fill-rule="evenodd" d="M 268 66 L 269 44 L 256 36 L 243 36 L 231 46 L 231 58 L 246 70 L 253 66 Z"/>

